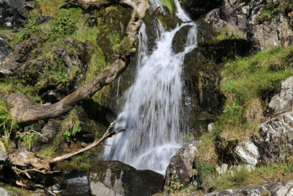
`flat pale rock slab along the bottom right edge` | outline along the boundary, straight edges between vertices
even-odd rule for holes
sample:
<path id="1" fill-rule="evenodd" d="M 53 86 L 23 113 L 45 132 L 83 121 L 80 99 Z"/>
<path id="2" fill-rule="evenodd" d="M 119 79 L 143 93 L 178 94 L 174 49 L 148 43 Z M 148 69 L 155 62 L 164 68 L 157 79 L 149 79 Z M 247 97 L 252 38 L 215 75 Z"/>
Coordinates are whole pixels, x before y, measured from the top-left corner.
<path id="1" fill-rule="evenodd" d="M 252 186 L 245 189 L 227 189 L 220 190 L 218 192 L 212 192 L 206 194 L 206 196 L 214 195 L 292 195 L 293 194 L 293 181 L 283 183 L 272 183 L 260 186 Z M 191 195 L 194 195 L 191 193 Z"/>

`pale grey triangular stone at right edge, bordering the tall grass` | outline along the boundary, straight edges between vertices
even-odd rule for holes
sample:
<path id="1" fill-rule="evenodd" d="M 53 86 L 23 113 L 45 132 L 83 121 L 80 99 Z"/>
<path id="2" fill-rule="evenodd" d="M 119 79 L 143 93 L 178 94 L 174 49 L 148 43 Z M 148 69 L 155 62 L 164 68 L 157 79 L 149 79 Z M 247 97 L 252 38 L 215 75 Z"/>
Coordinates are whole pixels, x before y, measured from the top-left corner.
<path id="1" fill-rule="evenodd" d="M 281 91 L 272 97 L 268 109 L 272 115 L 293 109 L 293 76 L 281 82 Z"/>

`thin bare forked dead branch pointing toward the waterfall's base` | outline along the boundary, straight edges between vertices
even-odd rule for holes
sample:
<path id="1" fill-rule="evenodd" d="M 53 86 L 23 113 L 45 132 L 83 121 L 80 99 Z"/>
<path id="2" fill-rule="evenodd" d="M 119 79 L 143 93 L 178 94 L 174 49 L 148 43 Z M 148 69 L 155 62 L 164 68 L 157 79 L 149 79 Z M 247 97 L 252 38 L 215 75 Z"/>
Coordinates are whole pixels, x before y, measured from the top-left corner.
<path id="1" fill-rule="evenodd" d="M 114 121 L 113 123 L 110 124 L 110 126 L 108 127 L 107 131 L 104 133 L 103 137 L 101 137 L 100 139 L 92 142 L 90 145 L 76 151 L 76 152 L 72 152 L 72 153 L 69 153 L 69 154 L 64 154 L 64 155 L 61 155 L 61 156 L 57 156 L 56 158 L 54 159 L 51 159 L 49 160 L 49 163 L 51 164 L 55 164 L 57 162 L 61 162 L 63 160 L 66 160 L 68 158 L 71 158 L 72 156 L 76 155 L 76 154 L 79 154 L 81 152 L 84 152 L 90 148 L 93 148 L 94 146 L 100 144 L 102 141 L 104 141 L 105 139 L 109 138 L 109 137 L 113 137 L 115 135 L 117 135 L 118 133 L 120 132 L 124 132 L 126 131 L 126 129 L 121 129 L 121 130 L 118 130 L 118 131 L 114 131 L 114 132 L 110 132 L 110 130 L 113 128 L 113 126 L 116 124 L 116 121 Z"/>

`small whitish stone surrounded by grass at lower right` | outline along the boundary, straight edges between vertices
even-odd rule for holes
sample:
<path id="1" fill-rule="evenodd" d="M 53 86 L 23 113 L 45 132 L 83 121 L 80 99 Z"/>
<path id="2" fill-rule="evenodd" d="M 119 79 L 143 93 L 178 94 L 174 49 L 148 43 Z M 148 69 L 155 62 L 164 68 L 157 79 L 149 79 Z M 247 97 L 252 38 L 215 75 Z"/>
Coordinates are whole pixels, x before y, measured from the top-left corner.
<path id="1" fill-rule="evenodd" d="M 260 156 L 258 147 L 251 141 L 240 142 L 234 148 L 234 153 L 237 155 L 241 162 L 254 166 L 258 163 L 258 158 Z"/>

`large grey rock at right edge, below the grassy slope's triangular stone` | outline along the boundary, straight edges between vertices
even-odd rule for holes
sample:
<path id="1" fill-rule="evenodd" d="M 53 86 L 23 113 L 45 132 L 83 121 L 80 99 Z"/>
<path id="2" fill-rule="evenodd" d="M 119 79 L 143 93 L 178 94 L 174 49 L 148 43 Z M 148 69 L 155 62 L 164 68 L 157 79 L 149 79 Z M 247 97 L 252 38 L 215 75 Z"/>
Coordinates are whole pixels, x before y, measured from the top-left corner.
<path id="1" fill-rule="evenodd" d="M 277 115 L 260 125 L 261 139 L 255 139 L 264 162 L 279 162 L 293 152 L 293 111 Z"/>

